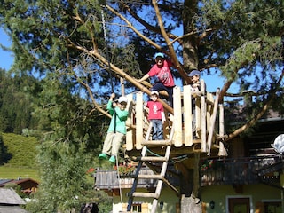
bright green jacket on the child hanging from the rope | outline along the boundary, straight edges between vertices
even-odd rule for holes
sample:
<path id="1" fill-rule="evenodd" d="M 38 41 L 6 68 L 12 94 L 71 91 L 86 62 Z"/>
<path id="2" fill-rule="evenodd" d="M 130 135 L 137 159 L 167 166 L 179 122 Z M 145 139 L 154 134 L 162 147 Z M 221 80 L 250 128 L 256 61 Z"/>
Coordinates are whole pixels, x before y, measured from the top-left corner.
<path id="1" fill-rule="evenodd" d="M 114 110 L 115 110 L 115 129 L 118 132 L 121 132 L 122 134 L 126 134 L 126 126 L 125 121 L 127 120 L 128 111 L 127 110 L 121 110 L 118 106 L 113 108 L 113 101 L 109 100 L 106 106 L 106 109 L 108 110 L 109 114 L 113 115 L 112 120 L 109 124 L 107 132 L 114 132 Z"/>

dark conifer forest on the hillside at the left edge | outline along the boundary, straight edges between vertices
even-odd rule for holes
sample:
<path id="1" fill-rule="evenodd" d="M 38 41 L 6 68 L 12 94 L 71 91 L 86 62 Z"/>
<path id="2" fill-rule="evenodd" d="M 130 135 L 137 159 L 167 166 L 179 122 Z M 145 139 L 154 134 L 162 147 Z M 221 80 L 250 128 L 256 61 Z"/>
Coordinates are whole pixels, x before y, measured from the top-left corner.
<path id="1" fill-rule="evenodd" d="M 31 103 L 36 104 L 39 80 L 25 74 L 11 76 L 4 70 L 0 75 L 0 130 L 20 134 L 24 128 L 34 129 Z"/>

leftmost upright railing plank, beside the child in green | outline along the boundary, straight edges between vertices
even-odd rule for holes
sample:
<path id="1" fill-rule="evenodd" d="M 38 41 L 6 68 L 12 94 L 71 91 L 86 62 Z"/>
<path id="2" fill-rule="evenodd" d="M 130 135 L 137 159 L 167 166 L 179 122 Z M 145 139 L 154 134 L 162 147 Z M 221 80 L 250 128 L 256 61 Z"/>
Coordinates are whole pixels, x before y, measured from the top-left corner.
<path id="1" fill-rule="evenodd" d="M 134 130 L 131 127 L 133 124 L 133 94 L 130 93 L 127 95 L 128 103 L 127 103 L 127 110 L 128 110 L 128 118 L 125 122 L 126 124 L 126 150 L 130 151 L 133 149 L 133 133 Z"/>

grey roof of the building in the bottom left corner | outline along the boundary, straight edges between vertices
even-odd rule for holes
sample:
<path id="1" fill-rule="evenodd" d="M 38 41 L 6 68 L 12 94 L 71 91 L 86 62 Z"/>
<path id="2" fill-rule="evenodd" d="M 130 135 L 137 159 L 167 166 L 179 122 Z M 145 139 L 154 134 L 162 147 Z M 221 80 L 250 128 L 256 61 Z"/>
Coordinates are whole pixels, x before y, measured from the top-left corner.
<path id="1" fill-rule="evenodd" d="M 26 202 L 12 188 L 0 188 L 0 205 L 2 204 L 23 205 Z"/>

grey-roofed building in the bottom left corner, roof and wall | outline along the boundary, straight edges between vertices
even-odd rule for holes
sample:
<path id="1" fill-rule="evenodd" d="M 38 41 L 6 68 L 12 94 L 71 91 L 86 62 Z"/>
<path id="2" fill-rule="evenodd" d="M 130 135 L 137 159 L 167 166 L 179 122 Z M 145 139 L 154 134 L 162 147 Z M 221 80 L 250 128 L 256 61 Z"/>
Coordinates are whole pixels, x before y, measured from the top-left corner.
<path id="1" fill-rule="evenodd" d="M 12 188 L 0 188 L 0 212 L 1 213 L 28 213 L 20 205 L 25 205 L 19 194 Z"/>

